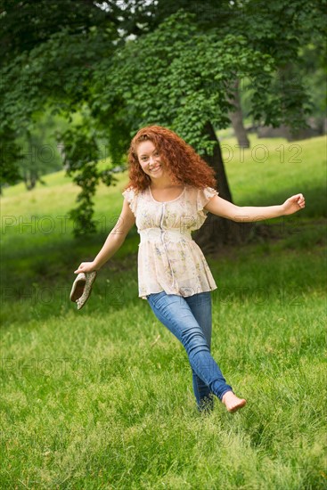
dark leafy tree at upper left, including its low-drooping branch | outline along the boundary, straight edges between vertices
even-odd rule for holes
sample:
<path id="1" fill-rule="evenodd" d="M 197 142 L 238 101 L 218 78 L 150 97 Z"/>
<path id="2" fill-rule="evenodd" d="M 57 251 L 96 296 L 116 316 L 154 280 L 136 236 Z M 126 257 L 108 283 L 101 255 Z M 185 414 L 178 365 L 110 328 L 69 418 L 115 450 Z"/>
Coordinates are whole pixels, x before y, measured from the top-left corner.
<path id="1" fill-rule="evenodd" d="M 119 38 L 115 28 L 115 22 L 119 22 L 110 12 L 84 0 L 41 0 L 37 4 L 14 0 L 4 2 L 2 13 L 2 182 L 13 183 L 25 173 L 29 186 L 35 183 L 39 176 L 37 162 L 27 167 L 19 150 L 22 140 L 27 135 L 29 138 L 31 122 L 50 108 L 51 113 L 61 114 L 69 121 L 70 131 L 63 131 L 57 138 L 58 143 L 66 145 L 63 154 L 69 175 L 82 187 L 78 208 L 71 217 L 77 220 L 79 233 L 94 232 L 92 196 L 100 179 L 110 184 L 112 178 L 109 169 L 98 172 L 92 160 L 99 155 L 96 137 L 92 135 L 96 124 L 87 118 L 85 107 L 94 64 L 110 57 Z M 71 124 L 71 114 L 83 110 L 83 127 Z"/>

